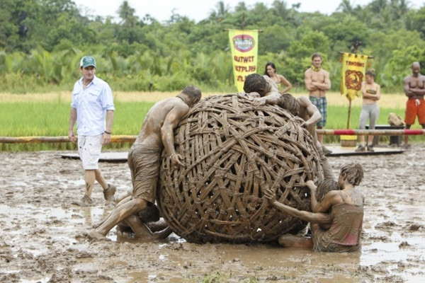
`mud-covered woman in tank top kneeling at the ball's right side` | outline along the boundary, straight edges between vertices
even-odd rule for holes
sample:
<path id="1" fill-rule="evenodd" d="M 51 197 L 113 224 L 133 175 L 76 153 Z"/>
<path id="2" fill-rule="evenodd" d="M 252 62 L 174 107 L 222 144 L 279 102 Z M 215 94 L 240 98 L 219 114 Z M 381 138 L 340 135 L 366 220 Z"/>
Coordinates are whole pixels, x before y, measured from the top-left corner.
<path id="1" fill-rule="evenodd" d="M 341 190 L 330 190 L 318 202 L 316 186 L 312 181 L 306 183 L 310 188 L 312 211 L 305 212 L 289 207 L 276 200 L 276 193 L 269 188 L 264 192 L 271 205 L 281 212 L 290 214 L 312 224 L 312 238 L 282 235 L 279 244 L 284 247 L 313 248 L 321 252 L 356 252 L 361 250 L 361 231 L 363 226 L 363 203 L 365 196 L 357 185 L 363 179 L 363 167 L 350 163 L 341 168 L 338 184 Z M 330 210 L 330 213 L 328 213 Z M 326 229 L 328 228 L 329 229 Z"/>

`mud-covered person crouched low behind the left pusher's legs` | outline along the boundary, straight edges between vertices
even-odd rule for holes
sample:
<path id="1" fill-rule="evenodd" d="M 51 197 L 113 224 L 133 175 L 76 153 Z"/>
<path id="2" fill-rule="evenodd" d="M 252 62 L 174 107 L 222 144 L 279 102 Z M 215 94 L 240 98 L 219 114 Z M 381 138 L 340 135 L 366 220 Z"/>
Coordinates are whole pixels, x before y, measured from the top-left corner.
<path id="1" fill-rule="evenodd" d="M 125 192 L 115 201 L 118 205 L 120 202 L 128 201 L 126 197 L 131 197 L 132 192 Z M 155 204 L 149 202 L 146 209 L 136 214 L 128 216 L 117 225 L 117 230 L 122 233 L 134 233 L 135 238 L 141 240 L 158 240 L 168 237 L 173 231 L 165 223 L 159 221 L 159 210 Z"/>

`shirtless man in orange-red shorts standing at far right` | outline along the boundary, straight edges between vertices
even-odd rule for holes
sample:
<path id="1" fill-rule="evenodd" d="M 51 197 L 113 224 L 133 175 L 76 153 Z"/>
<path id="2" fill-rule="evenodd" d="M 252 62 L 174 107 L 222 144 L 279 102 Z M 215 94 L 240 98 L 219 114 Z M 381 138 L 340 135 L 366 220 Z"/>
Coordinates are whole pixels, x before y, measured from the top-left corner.
<path id="1" fill-rule="evenodd" d="M 404 93 L 406 94 L 406 112 L 404 115 L 405 128 L 410 129 L 418 116 L 419 124 L 425 129 L 425 76 L 421 75 L 421 65 L 419 62 L 413 62 L 412 74 L 405 77 Z M 409 147 L 409 136 L 404 135 L 404 149 Z"/>

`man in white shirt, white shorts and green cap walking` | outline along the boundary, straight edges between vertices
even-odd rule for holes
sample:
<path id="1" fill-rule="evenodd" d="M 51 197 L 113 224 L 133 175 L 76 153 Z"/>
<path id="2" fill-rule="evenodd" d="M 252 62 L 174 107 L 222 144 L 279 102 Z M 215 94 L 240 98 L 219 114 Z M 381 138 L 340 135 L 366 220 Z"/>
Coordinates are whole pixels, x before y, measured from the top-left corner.
<path id="1" fill-rule="evenodd" d="M 116 187 L 109 185 L 98 168 L 98 160 L 104 144 L 111 142 L 113 124 L 113 96 L 106 81 L 98 79 L 94 57 L 84 56 L 80 61 L 82 78 L 74 84 L 71 113 L 69 115 L 68 137 L 75 143 L 74 124 L 77 122 L 78 153 L 84 168 L 86 193 L 73 204 L 91 206 L 94 181 L 103 187 L 106 202 L 113 202 Z M 106 122 L 105 122 L 106 118 Z"/>

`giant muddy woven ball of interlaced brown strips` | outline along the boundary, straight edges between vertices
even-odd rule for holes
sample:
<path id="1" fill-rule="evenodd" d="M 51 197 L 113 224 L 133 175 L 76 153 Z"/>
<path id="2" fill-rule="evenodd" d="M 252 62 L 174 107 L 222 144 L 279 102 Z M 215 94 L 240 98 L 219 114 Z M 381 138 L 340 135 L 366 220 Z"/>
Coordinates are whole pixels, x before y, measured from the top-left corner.
<path id="1" fill-rule="evenodd" d="M 311 209 L 309 190 L 297 185 L 323 172 L 301 122 L 246 94 L 201 100 L 175 132 L 185 166 L 171 172 L 163 156 L 157 202 L 171 229 L 193 243 L 275 241 L 304 229 L 263 197 L 272 187 L 279 202 Z"/>

